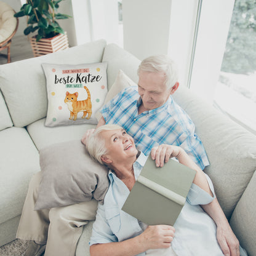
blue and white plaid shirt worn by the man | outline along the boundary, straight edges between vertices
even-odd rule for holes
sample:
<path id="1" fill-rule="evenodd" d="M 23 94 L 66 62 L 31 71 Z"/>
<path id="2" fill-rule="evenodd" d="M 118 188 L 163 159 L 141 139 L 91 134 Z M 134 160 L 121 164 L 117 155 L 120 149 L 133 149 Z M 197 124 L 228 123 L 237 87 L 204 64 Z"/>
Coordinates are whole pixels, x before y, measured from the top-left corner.
<path id="1" fill-rule="evenodd" d="M 100 112 L 106 124 L 123 127 L 145 155 L 149 155 L 154 146 L 176 145 L 181 146 L 201 169 L 209 165 L 193 122 L 172 97 L 159 108 L 138 114 L 141 103 L 137 86 L 131 86 L 119 92 Z"/>

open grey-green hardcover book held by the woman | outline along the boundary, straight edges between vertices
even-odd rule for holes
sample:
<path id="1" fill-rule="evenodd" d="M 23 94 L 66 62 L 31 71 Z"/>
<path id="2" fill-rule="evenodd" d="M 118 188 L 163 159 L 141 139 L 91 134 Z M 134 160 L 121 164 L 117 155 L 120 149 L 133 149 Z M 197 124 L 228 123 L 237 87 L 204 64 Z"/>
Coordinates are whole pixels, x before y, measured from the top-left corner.
<path id="1" fill-rule="evenodd" d="M 149 156 L 122 210 L 147 225 L 173 226 L 195 175 L 195 170 L 173 159 L 156 167 Z"/>

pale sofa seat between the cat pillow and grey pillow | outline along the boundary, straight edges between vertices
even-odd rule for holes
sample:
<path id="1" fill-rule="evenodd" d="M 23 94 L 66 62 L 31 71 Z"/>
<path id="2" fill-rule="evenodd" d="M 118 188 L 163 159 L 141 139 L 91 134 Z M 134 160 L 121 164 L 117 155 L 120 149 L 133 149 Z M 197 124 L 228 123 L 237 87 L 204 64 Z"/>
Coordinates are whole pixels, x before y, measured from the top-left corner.
<path id="1" fill-rule="evenodd" d="M 44 126 L 46 119 L 40 119 L 26 127 L 34 145 L 41 150 L 46 146 L 69 140 L 79 140 L 87 129 L 95 128 L 95 124 L 79 124 L 78 126 Z"/>

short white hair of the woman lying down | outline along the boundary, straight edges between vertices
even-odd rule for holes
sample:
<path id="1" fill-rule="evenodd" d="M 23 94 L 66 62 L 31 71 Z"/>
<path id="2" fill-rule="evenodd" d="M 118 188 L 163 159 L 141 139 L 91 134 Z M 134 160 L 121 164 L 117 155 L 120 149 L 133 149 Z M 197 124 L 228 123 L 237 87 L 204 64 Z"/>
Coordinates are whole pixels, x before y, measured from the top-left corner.
<path id="1" fill-rule="evenodd" d="M 105 140 L 103 140 L 103 138 L 100 137 L 100 133 L 103 132 L 104 130 L 118 129 L 122 129 L 122 127 L 118 126 L 117 124 L 105 124 L 104 126 L 98 127 L 95 130 L 95 132 L 88 138 L 86 148 L 90 156 L 94 158 L 96 161 L 100 162 L 100 164 L 103 164 L 102 156 L 108 153 L 108 150 L 106 149 L 105 145 Z"/>

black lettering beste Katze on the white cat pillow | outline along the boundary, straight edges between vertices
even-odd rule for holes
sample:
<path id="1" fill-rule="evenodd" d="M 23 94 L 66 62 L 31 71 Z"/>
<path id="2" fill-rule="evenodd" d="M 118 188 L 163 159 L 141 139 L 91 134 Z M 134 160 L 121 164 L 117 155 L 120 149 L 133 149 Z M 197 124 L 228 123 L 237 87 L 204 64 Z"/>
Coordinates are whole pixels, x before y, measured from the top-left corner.
<path id="1" fill-rule="evenodd" d="M 87 74 L 86 76 L 82 76 L 82 73 L 76 74 L 76 78 L 74 78 L 73 76 L 66 76 L 63 78 L 58 78 L 57 74 L 55 74 L 55 84 L 71 84 L 71 83 L 86 83 L 87 82 L 98 82 L 100 81 L 100 79 L 102 79 L 102 76 L 98 75 L 98 76 L 94 76 L 92 74 Z"/>

